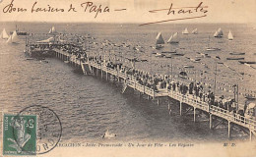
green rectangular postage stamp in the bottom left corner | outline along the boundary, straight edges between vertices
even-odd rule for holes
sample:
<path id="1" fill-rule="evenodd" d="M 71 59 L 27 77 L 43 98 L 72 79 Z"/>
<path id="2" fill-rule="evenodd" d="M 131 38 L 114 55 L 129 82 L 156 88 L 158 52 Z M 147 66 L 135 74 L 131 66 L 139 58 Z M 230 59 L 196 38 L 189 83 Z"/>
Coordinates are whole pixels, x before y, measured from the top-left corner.
<path id="1" fill-rule="evenodd" d="M 36 116 L 4 115 L 3 154 L 35 155 Z"/>

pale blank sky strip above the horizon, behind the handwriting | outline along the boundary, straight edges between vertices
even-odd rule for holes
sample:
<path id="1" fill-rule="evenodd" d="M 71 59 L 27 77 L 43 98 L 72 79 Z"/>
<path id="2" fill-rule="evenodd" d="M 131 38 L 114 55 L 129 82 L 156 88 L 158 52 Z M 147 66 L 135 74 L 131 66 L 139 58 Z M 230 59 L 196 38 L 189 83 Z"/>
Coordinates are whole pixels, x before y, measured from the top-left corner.
<path id="1" fill-rule="evenodd" d="M 54 23 L 243 23 L 256 24 L 256 0 L 0 0 L 0 22 L 54 22 Z M 12 10 L 7 10 L 13 1 Z M 85 8 L 82 3 L 93 2 L 92 6 Z M 200 2 L 207 13 L 194 12 L 192 14 L 177 14 L 180 8 L 197 7 Z M 64 9 L 64 12 L 34 12 L 37 8 L 49 7 Z M 68 12 L 70 5 L 77 12 Z M 172 9 L 151 13 L 151 10 Z M 94 12 L 101 5 L 101 13 Z M 96 6 L 96 8 L 92 8 Z M 103 12 L 104 8 L 109 12 Z M 18 8 L 27 9 L 26 12 L 17 12 Z M 106 9 L 107 9 L 106 8 Z M 179 8 L 179 9 L 176 9 Z M 92 12 L 90 13 L 90 9 Z M 121 10 L 125 9 L 125 10 Z M 185 8 L 184 10 L 188 10 Z M 16 10 L 16 11 L 14 11 Z M 115 11 L 121 10 L 121 11 Z M 11 13 L 9 13 L 12 11 Z M 7 13 L 4 13 L 7 12 Z M 194 17 L 202 17 L 191 19 Z M 186 20 L 181 20 L 186 19 Z M 172 21 L 169 21 L 172 20 Z M 173 21 L 178 20 L 178 21 Z"/>

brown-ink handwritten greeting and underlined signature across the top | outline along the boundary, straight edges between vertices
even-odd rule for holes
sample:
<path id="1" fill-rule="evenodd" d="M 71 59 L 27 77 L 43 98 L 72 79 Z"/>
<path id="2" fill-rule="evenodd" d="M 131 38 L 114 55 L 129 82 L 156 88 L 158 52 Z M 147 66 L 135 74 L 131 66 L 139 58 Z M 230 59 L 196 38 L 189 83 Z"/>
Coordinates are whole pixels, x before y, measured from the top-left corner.
<path id="1" fill-rule="evenodd" d="M 83 12 L 88 15 L 93 15 L 96 19 L 99 15 L 107 14 L 111 12 L 120 12 L 120 11 L 127 11 L 126 8 L 121 9 L 112 9 L 107 5 L 102 5 L 91 1 L 86 1 L 80 4 L 68 4 L 66 8 L 60 8 L 59 6 L 52 6 L 47 4 L 46 6 L 41 5 L 37 1 L 32 3 L 32 7 L 23 8 L 17 7 L 15 5 L 15 0 L 11 0 L 8 5 L 3 8 L 3 13 L 11 14 L 11 13 L 23 13 L 23 12 L 31 12 L 33 13 L 76 13 L 76 12 Z M 140 26 L 146 26 L 151 24 L 160 24 L 166 23 L 171 21 L 181 21 L 181 20 L 189 20 L 189 19 L 199 19 L 207 17 L 208 13 L 208 6 L 203 5 L 203 2 L 200 2 L 198 5 L 192 7 L 176 7 L 173 3 L 164 9 L 158 10 L 151 10 L 149 11 L 150 14 L 161 14 L 163 17 L 170 17 L 166 18 L 165 20 L 159 20 L 151 23 L 142 24 Z"/>

